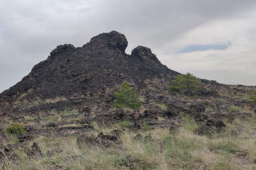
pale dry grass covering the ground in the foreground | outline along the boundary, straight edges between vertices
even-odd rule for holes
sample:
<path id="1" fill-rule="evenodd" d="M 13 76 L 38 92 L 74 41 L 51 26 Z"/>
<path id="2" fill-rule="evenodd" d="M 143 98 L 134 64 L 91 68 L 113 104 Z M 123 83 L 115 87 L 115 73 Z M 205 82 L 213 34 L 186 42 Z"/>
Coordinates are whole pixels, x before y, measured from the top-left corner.
<path id="1" fill-rule="evenodd" d="M 100 127 L 94 125 L 91 133 L 108 133 L 121 125 Z M 34 140 L 42 150 L 43 157 L 28 157 L 23 148 L 17 148 L 18 162 L 6 159 L 4 169 L 52 170 L 52 169 L 251 169 L 256 170 L 256 123 L 255 117 L 227 123 L 225 130 L 208 136 L 194 134 L 197 124 L 188 119 L 178 131 L 157 128 L 140 131 L 144 137 L 149 133 L 153 141 L 134 140 L 137 132 L 128 129 L 120 137 L 123 147 L 77 146 L 76 136 Z M 28 146 L 32 145 L 32 142 Z M 52 155 L 49 150 L 61 150 Z M 0 165 L 0 169 L 1 169 Z"/>

